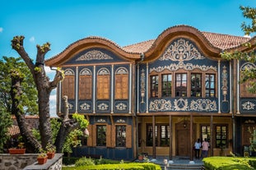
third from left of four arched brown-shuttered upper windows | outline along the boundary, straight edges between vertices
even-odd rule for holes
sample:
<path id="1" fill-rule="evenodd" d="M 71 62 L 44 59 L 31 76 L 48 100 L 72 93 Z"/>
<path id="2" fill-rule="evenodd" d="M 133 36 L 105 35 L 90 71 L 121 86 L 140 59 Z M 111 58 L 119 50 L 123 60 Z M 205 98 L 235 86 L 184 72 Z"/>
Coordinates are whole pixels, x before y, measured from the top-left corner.
<path id="1" fill-rule="evenodd" d="M 109 99 L 110 73 L 107 68 L 101 68 L 97 74 L 97 99 Z"/>

